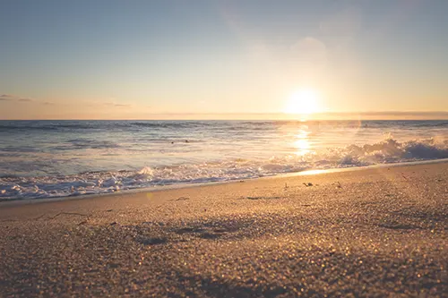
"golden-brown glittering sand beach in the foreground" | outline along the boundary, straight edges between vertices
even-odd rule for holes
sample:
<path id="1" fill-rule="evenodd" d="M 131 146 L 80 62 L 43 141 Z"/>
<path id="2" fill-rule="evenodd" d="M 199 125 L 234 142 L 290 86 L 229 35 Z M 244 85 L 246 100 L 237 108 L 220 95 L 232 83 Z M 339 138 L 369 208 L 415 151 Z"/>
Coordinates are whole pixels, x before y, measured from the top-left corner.
<path id="1" fill-rule="evenodd" d="M 0 296 L 448 296 L 448 163 L 0 207 Z"/>

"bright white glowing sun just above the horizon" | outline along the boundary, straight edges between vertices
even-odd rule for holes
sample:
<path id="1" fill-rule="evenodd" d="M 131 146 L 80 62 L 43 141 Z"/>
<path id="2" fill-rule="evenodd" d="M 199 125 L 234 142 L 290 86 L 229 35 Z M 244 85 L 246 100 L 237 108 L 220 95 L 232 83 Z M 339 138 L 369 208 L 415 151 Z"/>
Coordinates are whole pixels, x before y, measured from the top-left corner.
<path id="1" fill-rule="evenodd" d="M 292 93 L 286 106 L 284 113 L 310 115 L 319 111 L 319 96 L 314 89 L 299 89 Z"/>

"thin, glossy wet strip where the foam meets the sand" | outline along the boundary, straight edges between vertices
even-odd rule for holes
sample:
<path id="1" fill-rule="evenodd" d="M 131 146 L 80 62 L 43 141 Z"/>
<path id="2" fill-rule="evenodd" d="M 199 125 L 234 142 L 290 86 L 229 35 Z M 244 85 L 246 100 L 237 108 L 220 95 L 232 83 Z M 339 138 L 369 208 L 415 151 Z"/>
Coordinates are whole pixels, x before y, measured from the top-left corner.
<path id="1" fill-rule="evenodd" d="M 254 181 L 254 180 L 259 180 L 259 179 L 262 179 L 262 180 L 263 179 L 276 179 L 276 178 L 286 178 L 289 176 L 302 176 L 302 175 L 325 175 L 325 174 L 330 174 L 330 173 L 364 171 L 364 170 L 368 170 L 368 169 L 383 168 L 383 167 L 418 166 L 418 165 L 426 165 L 426 164 L 431 165 L 431 164 L 444 164 L 444 163 L 448 163 L 448 158 L 398 162 L 398 163 L 390 163 L 390 164 L 377 164 L 377 165 L 370 165 L 370 166 L 348 166 L 348 167 L 329 168 L 329 169 L 308 169 L 308 170 L 304 170 L 304 171 L 300 171 L 300 172 L 283 173 L 283 174 L 278 174 L 278 175 L 266 175 L 266 176 L 262 176 L 262 177 L 248 178 L 248 179 L 235 179 L 235 180 L 205 182 L 205 183 L 177 183 L 177 184 L 135 188 L 132 190 L 125 190 L 125 191 L 120 190 L 119 192 L 102 192 L 102 193 L 82 194 L 82 195 L 75 195 L 75 196 L 53 197 L 53 198 L 6 199 L 6 200 L 0 200 L 0 209 L 2 209 L 4 206 L 16 206 L 16 205 L 22 206 L 22 205 L 28 205 L 28 204 L 45 203 L 45 202 L 61 201 L 61 200 L 92 200 L 92 199 L 103 197 L 103 196 L 120 196 L 120 195 L 126 195 L 126 194 L 135 194 L 135 193 L 139 193 L 139 192 L 164 192 L 164 191 L 174 190 L 174 189 L 189 189 L 189 188 L 202 187 L 202 186 L 207 186 L 207 185 L 240 183 L 240 182 Z"/>

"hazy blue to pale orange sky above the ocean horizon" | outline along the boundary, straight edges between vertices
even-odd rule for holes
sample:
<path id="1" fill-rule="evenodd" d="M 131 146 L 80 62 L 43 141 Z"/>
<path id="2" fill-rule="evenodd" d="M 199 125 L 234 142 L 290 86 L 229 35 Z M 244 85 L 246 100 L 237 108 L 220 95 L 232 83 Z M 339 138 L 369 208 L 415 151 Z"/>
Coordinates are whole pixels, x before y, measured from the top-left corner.
<path id="1" fill-rule="evenodd" d="M 0 119 L 293 117 L 300 106 L 444 117 L 446 12 L 446 0 L 6 0 Z"/>

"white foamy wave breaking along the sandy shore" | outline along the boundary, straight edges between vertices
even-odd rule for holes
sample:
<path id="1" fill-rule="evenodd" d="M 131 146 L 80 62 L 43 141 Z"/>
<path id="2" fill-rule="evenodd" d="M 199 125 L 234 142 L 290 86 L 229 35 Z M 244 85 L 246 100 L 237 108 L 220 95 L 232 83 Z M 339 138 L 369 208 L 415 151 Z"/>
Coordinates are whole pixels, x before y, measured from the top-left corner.
<path id="1" fill-rule="evenodd" d="M 108 144 L 109 145 L 109 144 Z M 326 149 L 304 156 L 269 159 L 236 158 L 177 166 L 145 166 L 138 170 L 91 171 L 78 175 L 0 176 L 0 200 L 65 197 L 132 190 L 178 183 L 208 183 L 267 175 L 448 158 L 448 140 L 400 142 L 392 138 L 365 145 Z"/>

